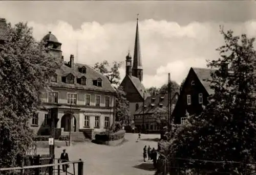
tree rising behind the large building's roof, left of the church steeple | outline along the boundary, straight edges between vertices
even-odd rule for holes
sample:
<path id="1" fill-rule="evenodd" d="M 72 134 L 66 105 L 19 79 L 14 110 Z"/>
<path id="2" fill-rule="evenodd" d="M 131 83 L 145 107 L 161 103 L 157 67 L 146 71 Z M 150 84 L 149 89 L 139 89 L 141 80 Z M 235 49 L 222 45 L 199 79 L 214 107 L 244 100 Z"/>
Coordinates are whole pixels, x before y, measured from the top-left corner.
<path id="1" fill-rule="evenodd" d="M 94 69 L 102 73 L 106 78 L 109 79 L 112 85 L 118 85 L 120 82 L 120 72 L 119 68 L 121 67 L 121 62 L 113 62 L 112 67 L 108 61 L 104 60 L 101 63 L 96 63 Z"/>

